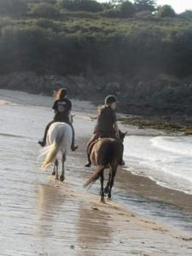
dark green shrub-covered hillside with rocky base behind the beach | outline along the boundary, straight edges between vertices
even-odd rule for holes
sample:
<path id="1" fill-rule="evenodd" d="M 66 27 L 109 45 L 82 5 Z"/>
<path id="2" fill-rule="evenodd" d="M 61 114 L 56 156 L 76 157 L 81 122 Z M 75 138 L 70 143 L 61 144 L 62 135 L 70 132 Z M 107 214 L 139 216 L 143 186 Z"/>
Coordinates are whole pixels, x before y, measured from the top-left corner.
<path id="1" fill-rule="evenodd" d="M 36 2 L 22 12 L 0 15 L 0 76 L 8 87 L 20 87 L 20 79 L 10 74 L 31 72 L 42 85 L 39 89 L 22 81 L 22 90 L 48 91 L 52 85 L 46 76 L 55 75 L 75 88 L 73 96 L 100 102 L 108 93 L 116 94 L 125 113 L 191 114 L 189 13 L 162 17 L 158 11 L 135 10 L 122 18 L 120 4 L 102 10 L 96 6 L 92 12 L 64 9 L 58 1 L 44 3 L 49 5 L 45 9 Z"/>

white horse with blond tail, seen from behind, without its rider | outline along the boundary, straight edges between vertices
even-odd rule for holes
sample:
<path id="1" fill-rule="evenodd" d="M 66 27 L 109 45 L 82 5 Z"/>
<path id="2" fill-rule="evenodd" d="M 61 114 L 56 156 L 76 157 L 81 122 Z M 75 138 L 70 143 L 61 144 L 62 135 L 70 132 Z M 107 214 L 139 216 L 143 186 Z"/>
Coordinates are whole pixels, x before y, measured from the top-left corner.
<path id="1" fill-rule="evenodd" d="M 71 148 L 72 137 L 73 131 L 70 125 L 67 123 L 55 122 L 50 125 L 46 139 L 46 146 L 41 150 L 41 155 L 45 155 L 41 169 L 45 170 L 51 164 L 54 164 L 52 175 L 55 175 L 55 179 L 59 179 L 58 166 L 59 159 L 61 159 L 61 181 L 64 181 L 65 179 L 64 163 L 68 151 Z"/>

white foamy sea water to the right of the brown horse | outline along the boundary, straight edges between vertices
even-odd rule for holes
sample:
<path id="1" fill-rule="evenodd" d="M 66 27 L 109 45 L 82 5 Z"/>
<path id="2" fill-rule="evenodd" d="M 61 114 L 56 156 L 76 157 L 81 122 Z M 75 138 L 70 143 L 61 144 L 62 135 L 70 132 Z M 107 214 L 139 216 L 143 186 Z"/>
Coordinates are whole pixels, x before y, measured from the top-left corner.
<path id="1" fill-rule="evenodd" d="M 125 161 L 137 175 L 192 194 L 192 137 L 126 137 Z"/>

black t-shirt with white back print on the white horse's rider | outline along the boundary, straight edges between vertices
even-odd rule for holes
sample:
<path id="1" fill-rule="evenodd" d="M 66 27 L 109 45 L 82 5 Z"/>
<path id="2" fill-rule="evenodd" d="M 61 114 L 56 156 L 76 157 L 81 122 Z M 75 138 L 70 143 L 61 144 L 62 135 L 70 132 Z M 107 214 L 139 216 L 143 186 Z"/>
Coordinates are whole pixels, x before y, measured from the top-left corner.
<path id="1" fill-rule="evenodd" d="M 69 122 L 68 114 L 72 109 L 72 102 L 67 98 L 54 102 L 53 109 L 55 110 L 54 120 L 57 122 Z"/>

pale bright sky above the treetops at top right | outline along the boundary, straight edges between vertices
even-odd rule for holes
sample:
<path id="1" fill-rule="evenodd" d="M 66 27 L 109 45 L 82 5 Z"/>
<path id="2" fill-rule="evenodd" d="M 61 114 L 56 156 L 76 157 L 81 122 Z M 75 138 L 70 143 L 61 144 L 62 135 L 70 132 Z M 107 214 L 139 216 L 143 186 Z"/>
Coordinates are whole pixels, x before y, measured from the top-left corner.
<path id="1" fill-rule="evenodd" d="M 186 9 L 192 10 L 192 0 L 157 0 L 158 5 L 171 5 L 177 14 L 182 13 Z"/>

